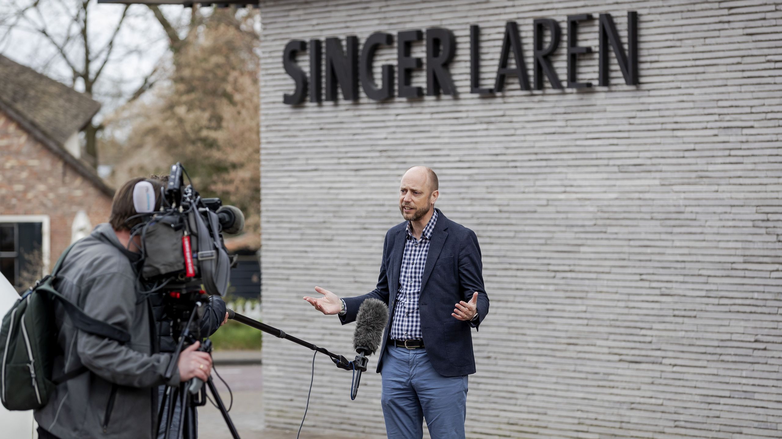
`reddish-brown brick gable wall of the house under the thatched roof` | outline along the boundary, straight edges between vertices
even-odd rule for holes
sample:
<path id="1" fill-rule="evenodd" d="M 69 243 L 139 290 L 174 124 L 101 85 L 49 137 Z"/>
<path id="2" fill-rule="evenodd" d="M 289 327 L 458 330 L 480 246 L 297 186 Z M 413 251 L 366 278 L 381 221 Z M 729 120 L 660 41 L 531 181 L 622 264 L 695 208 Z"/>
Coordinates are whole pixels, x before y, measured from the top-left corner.
<path id="1" fill-rule="evenodd" d="M 105 223 L 111 198 L 0 112 L 0 215 L 48 215 L 51 262 L 70 244 L 76 213 Z"/>

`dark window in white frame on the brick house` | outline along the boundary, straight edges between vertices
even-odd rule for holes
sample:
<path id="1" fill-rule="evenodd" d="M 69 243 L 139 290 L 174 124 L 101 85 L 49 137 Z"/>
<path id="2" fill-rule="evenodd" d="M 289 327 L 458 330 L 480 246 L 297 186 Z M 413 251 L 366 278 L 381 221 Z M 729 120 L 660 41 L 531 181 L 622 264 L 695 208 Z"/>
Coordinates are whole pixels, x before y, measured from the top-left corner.
<path id="1" fill-rule="evenodd" d="M 42 276 L 41 223 L 0 223 L 0 273 L 24 291 Z"/>

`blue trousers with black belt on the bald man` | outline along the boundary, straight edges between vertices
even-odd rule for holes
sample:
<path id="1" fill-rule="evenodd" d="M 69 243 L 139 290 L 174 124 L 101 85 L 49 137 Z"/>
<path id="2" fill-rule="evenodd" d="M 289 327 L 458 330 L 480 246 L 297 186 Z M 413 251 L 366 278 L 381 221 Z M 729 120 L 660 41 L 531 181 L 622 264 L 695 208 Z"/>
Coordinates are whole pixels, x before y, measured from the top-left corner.
<path id="1" fill-rule="evenodd" d="M 467 375 L 443 377 L 426 350 L 386 346 L 380 398 L 389 439 L 464 439 Z"/>

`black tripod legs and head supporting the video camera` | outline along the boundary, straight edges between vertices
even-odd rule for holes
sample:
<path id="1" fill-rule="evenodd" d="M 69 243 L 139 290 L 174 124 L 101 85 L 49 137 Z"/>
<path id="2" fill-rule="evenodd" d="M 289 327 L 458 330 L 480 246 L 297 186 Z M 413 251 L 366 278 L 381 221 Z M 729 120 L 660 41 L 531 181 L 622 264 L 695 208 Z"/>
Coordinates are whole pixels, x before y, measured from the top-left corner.
<path id="1" fill-rule="evenodd" d="M 170 380 L 174 376 L 174 368 L 178 367 L 179 354 L 182 352 L 182 348 L 185 347 L 185 342 L 190 345 L 195 343 L 196 338 L 191 333 L 194 317 L 199 314 L 201 309 L 201 302 L 195 302 L 195 307 L 190 313 L 188 323 L 181 331 L 177 348 L 174 351 L 174 355 L 171 358 L 171 362 L 168 364 L 165 377 Z M 197 323 L 197 322 L 196 322 Z M 212 341 L 206 339 L 201 344 L 199 351 L 212 353 Z M 231 436 L 234 439 L 239 438 L 239 432 L 236 431 L 231 416 L 228 416 L 228 410 L 225 409 L 222 398 L 217 392 L 217 387 L 214 386 L 212 377 L 210 376 L 206 380 L 206 387 L 203 386 L 204 382 L 198 378 L 192 378 L 191 380 L 179 384 L 178 387 L 166 387 L 163 393 L 163 398 L 160 401 L 160 407 L 158 408 L 158 424 L 157 432 L 161 431 L 163 427 L 163 411 L 166 412 L 165 418 L 165 439 L 195 439 L 198 437 L 198 418 L 196 417 L 195 408 L 206 405 L 206 389 L 208 388 L 212 394 L 217 409 L 220 410 L 223 419 L 225 420 L 228 430 L 231 431 Z M 181 415 L 177 419 L 177 424 L 174 425 L 174 412 L 179 409 Z"/>

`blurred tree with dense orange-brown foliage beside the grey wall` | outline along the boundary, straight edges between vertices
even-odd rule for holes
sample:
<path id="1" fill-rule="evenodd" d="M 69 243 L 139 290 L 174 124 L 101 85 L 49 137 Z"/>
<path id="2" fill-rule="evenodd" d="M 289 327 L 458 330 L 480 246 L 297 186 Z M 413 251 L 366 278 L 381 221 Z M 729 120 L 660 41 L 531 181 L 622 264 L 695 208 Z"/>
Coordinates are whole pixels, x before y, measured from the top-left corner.
<path id="1" fill-rule="evenodd" d="M 168 173 L 182 162 L 203 195 L 245 212 L 260 228 L 260 17 L 256 10 L 194 12 L 199 25 L 172 42 L 174 70 L 143 100 L 104 122 L 113 184 Z M 176 33 L 179 35 L 179 33 Z"/>

